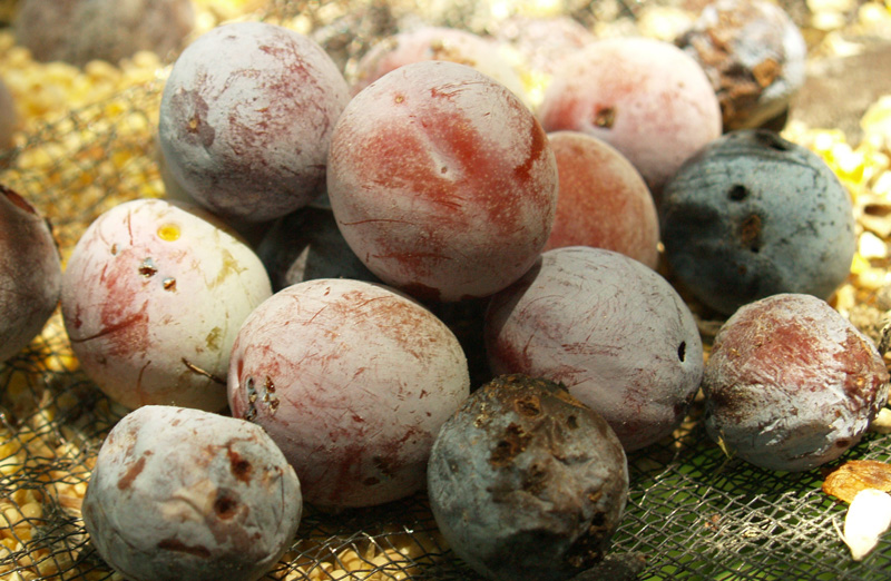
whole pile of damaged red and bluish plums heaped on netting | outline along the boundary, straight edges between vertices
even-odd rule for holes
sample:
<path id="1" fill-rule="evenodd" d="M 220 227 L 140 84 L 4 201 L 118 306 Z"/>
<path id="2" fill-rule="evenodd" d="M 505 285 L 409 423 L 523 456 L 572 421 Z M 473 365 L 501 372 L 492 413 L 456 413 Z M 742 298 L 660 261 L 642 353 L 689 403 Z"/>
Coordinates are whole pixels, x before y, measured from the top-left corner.
<path id="1" fill-rule="evenodd" d="M 61 278 L 84 371 L 134 410 L 85 503 L 125 575 L 255 579 L 281 554 L 270 511 L 293 534 L 303 500 L 427 488 L 481 574 L 566 579 L 608 550 L 626 452 L 670 439 L 701 387 L 708 433 L 776 470 L 838 457 L 884 405 L 875 347 L 826 303 L 854 230 L 820 158 L 722 125 L 714 75 L 679 46 L 567 49 L 535 111 L 496 47 L 423 28 L 351 83 L 307 37 L 238 22 L 175 62 L 158 139 L 186 200 L 108 210 Z M 675 285 L 730 317 L 707 364 Z M 138 551 L 134 511 L 158 519 Z M 267 539 L 263 567 L 236 534 Z"/>

